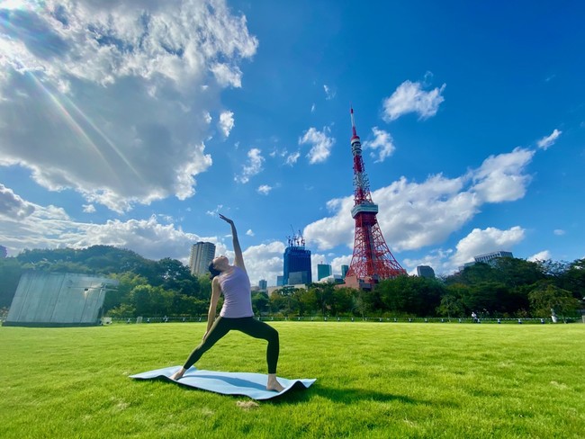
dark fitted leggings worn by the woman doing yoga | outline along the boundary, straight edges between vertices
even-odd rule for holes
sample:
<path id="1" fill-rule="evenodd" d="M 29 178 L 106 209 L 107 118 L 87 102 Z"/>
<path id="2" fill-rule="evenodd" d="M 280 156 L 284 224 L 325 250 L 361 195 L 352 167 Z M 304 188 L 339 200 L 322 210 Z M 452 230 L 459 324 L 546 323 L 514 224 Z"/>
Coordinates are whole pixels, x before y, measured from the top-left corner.
<path id="1" fill-rule="evenodd" d="M 253 336 L 254 338 L 262 338 L 268 341 L 268 347 L 266 348 L 266 363 L 268 363 L 268 373 L 276 373 L 276 365 L 278 363 L 278 353 L 280 345 L 278 341 L 278 331 L 274 327 L 267 325 L 253 317 L 243 318 L 225 318 L 219 317 L 213 323 L 209 334 L 202 341 L 201 345 L 198 345 L 193 349 L 189 358 L 184 363 L 184 368 L 189 369 L 205 354 L 212 345 L 215 345 L 222 336 L 225 336 L 232 329 L 241 331 L 247 336 Z"/>

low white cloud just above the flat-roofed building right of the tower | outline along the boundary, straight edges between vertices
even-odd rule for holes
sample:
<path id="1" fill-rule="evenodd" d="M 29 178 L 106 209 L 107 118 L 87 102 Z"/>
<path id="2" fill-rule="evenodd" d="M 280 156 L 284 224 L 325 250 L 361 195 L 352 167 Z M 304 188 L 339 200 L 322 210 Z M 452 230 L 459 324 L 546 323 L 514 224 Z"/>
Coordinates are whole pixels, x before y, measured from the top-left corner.
<path id="1" fill-rule="evenodd" d="M 509 251 L 525 237 L 525 230 L 519 226 L 500 230 L 499 228 L 473 228 L 472 232 L 464 237 L 456 246 L 456 253 L 452 263 L 463 265 L 472 262 L 473 257 L 484 253 Z"/>

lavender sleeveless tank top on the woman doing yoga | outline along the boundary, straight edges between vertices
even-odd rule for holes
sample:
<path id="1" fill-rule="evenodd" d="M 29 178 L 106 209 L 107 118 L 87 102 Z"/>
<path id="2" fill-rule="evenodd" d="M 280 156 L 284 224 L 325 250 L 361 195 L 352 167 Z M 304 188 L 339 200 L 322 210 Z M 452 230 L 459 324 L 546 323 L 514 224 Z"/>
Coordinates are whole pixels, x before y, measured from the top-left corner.
<path id="1" fill-rule="evenodd" d="M 223 292 L 221 317 L 242 318 L 254 316 L 250 279 L 244 270 L 234 266 L 231 273 L 221 274 L 220 287 Z"/>

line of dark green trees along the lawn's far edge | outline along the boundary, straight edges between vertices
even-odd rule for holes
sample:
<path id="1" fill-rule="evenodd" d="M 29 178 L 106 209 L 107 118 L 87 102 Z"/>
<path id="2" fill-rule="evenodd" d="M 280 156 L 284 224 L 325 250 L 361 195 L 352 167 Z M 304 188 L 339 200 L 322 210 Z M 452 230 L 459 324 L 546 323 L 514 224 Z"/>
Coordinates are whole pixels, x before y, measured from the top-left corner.
<path id="1" fill-rule="evenodd" d="M 106 275 L 120 284 L 108 291 L 103 315 L 116 318 L 205 316 L 211 282 L 193 276 L 180 261 L 146 259 L 113 246 L 25 250 L 0 259 L 0 308 L 12 302 L 26 270 Z M 585 308 L 585 259 L 573 262 L 505 257 L 458 273 L 430 279 L 400 276 L 379 282 L 374 291 L 330 283 L 306 289 L 282 287 L 269 296 L 254 291 L 257 315 L 282 317 L 446 317 L 574 318 Z"/>

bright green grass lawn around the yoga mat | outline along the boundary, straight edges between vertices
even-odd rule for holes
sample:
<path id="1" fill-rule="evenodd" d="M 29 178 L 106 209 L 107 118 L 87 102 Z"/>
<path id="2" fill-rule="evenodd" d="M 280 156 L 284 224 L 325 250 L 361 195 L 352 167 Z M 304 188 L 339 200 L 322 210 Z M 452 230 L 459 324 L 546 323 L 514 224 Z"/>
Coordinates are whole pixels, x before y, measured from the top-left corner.
<path id="1" fill-rule="evenodd" d="M 245 397 L 132 373 L 182 364 L 204 323 L 0 327 L 2 438 L 584 437 L 585 325 L 275 322 L 278 374 L 309 390 Z M 232 332 L 197 367 L 266 373 Z"/>

